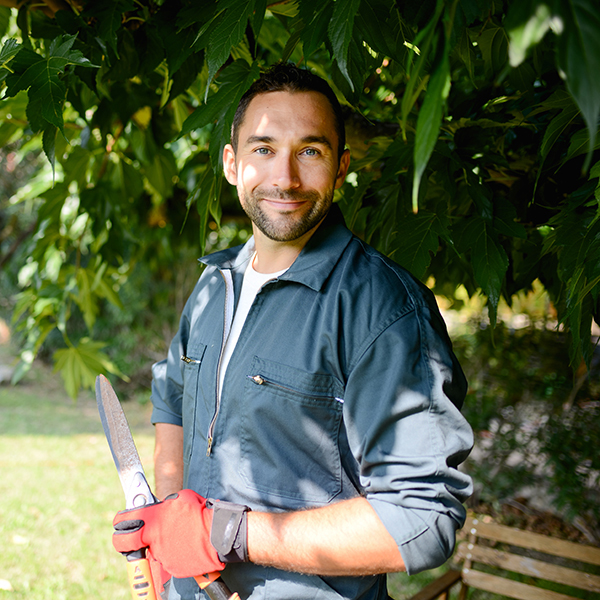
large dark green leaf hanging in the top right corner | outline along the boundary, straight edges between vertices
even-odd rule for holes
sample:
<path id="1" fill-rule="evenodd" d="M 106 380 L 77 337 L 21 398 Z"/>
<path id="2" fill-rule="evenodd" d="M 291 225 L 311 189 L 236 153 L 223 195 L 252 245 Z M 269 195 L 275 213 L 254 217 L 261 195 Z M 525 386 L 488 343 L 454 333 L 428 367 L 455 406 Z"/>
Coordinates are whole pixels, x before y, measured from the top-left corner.
<path id="1" fill-rule="evenodd" d="M 592 158 L 600 115 L 600 11 L 596 0 L 569 0 L 559 3 L 558 9 L 564 25 L 558 36 L 558 65 L 590 132 L 585 171 Z"/>

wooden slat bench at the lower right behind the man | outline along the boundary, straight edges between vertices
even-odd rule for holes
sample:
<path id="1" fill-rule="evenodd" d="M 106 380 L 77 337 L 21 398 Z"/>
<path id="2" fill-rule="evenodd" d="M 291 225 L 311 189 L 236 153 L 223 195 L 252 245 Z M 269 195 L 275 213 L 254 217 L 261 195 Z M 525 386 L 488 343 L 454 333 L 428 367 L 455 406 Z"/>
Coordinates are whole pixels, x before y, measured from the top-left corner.
<path id="1" fill-rule="evenodd" d="M 410 600 L 448 598 L 458 583 L 459 600 L 469 589 L 517 600 L 572 600 L 573 590 L 583 590 L 580 597 L 600 600 L 600 548 L 498 525 L 488 517 L 469 517 L 463 531 L 454 557 L 461 570 L 448 571 Z M 549 584 L 560 584 L 560 591 L 546 589 Z"/>

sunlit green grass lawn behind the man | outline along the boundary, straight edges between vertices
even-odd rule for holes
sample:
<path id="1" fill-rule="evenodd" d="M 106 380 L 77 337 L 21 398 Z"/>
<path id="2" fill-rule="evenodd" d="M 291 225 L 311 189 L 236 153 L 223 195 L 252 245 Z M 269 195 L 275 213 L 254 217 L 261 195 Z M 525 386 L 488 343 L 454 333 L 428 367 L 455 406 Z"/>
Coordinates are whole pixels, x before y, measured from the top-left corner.
<path id="1" fill-rule="evenodd" d="M 7 349 L 0 346 L 0 360 Z M 152 477 L 150 406 L 125 412 Z M 60 378 L 37 366 L 16 387 L 0 387 L 0 599 L 125 600 L 125 559 L 111 544 L 123 493 L 93 394 L 73 402 Z M 442 570 L 391 576 L 409 598 Z"/>

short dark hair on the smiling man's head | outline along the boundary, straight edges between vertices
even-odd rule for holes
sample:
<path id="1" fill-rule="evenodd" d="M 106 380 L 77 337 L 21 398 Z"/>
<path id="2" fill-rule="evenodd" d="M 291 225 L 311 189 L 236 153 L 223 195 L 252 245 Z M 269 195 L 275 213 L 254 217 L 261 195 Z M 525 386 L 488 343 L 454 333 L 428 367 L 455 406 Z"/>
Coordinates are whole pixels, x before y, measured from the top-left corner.
<path id="1" fill-rule="evenodd" d="M 231 126 L 231 145 L 237 153 L 239 130 L 250 102 L 259 94 L 269 92 L 319 92 L 323 94 L 333 110 L 335 130 L 338 135 L 338 161 L 346 147 L 346 129 L 340 103 L 329 84 L 308 69 L 301 69 L 291 63 L 277 63 L 264 71 L 242 96 L 233 117 Z"/>

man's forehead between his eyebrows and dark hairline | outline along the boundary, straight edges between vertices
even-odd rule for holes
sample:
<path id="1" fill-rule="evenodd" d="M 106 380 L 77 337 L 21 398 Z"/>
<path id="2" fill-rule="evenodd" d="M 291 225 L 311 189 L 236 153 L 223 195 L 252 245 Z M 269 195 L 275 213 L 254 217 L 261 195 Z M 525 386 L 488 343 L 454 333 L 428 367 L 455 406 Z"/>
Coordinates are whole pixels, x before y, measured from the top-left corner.
<path id="1" fill-rule="evenodd" d="M 319 92 L 268 92 L 255 96 L 240 126 L 240 145 L 251 136 L 325 136 L 332 146 L 338 141 L 333 108 Z"/>

